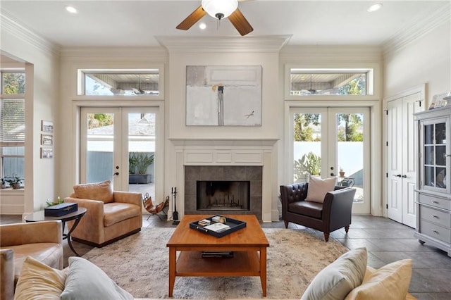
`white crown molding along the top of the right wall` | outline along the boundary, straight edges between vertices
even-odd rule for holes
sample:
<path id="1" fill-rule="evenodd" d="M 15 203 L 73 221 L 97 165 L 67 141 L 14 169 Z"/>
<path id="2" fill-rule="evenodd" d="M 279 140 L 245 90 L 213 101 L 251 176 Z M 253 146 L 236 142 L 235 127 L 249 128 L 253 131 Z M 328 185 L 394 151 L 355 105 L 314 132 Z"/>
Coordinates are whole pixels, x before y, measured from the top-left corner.
<path id="1" fill-rule="evenodd" d="M 449 22 L 450 16 L 451 5 L 450 2 L 446 1 L 443 6 L 428 13 L 428 18 L 420 18 L 415 22 L 412 22 L 414 25 L 409 25 L 407 28 L 394 32 L 392 37 L 385 40 L 381 44 L 383 55 L 385 56 L 392 52 L 398 51 L 414 40 L 423 37 L 428 32 L 431 32 L 436 27 Z"/>

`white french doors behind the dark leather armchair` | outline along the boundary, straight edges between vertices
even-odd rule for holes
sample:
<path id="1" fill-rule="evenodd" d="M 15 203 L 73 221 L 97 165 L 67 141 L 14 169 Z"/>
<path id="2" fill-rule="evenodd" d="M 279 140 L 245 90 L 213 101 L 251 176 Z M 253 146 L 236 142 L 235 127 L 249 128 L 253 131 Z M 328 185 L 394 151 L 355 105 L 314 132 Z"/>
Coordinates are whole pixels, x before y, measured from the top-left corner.
<path id="1" fill-rule="evenodd" d="M 293 182 L 336 177 L 357 189 L 352 213 L 370 213 L 369 108 L 291 108 Z"/>

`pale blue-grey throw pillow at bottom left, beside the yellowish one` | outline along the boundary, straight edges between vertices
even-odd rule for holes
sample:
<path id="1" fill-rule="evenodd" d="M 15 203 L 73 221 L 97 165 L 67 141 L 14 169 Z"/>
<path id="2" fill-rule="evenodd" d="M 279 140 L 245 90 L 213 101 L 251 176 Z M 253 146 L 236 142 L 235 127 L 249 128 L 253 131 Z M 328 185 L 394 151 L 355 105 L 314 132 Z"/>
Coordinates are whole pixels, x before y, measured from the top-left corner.
<path id="1" fill-rule="evenodd" d="M 101 268 L 85 258 L 70 256 L 66 288 L 61 300 L 132 300 L 133 296 L 116 285 Z"/>

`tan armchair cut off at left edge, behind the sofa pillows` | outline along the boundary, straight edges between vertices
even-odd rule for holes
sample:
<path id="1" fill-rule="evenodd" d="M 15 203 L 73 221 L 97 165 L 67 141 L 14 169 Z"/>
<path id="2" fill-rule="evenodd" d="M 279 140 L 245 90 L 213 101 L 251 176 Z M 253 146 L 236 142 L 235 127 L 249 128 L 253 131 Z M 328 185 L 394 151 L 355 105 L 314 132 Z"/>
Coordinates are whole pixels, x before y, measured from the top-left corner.
<path id="1" fill-rule="evenodd" d="M 51 268 L 63 268 L 63 227 L 60 220 L 0 225 L 0 299 L 13 299 L 27 256 Z"/>

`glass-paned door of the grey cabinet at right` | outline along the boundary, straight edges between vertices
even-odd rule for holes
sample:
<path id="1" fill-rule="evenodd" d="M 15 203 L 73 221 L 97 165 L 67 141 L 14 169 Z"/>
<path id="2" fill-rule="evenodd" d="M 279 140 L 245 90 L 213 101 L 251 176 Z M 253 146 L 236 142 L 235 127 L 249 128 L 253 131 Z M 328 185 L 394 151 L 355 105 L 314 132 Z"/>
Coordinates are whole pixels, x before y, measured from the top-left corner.
<path id="1" fill-rule="evenodd" d="M 447 126 L 443 123 L 424 125 L 424 186 L 447 188 Z"/>

